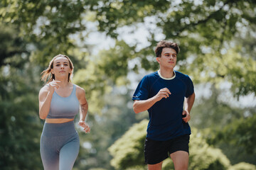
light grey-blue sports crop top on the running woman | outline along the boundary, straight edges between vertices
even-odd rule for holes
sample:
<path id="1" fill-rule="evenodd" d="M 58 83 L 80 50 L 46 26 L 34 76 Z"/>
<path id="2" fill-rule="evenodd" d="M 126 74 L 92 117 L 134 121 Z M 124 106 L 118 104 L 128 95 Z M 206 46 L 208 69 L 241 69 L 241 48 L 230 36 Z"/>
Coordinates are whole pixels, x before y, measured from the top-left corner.
<path id="1" fill-rule="evenodd" d="M 75 118 L 80 108 L 78 98 L 75 96 L 75 90 L 76 86 L 73 84 L 73 91 L 68 97 L 59 96 L 54 91 L 47 118 Z"/>

